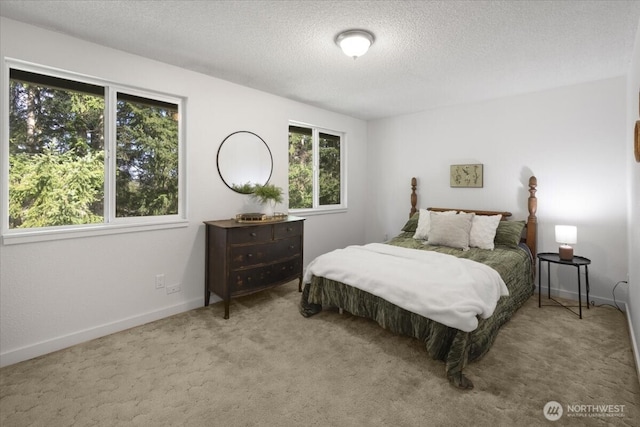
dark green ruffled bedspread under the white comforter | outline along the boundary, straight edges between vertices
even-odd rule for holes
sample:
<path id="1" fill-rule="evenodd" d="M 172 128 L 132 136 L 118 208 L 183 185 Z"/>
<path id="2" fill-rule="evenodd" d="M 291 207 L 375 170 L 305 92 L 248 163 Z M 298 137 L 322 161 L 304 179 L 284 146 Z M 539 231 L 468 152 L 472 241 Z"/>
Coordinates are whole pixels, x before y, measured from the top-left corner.
<path id="1" fill-rule="evenodd" d="M 500 298 L 491 317 L 479 318 L 475 330 L 463 332 L 411 313 L 360 289 L 314 276 L 311 283 L 304 286 L 300 313 L 309 317 L 320 312 L 322 306 L 339 307 L 353 315 L 373 319 L 394 333 L 413 336 L 425 343 L 431 357 L 445 362 L 447 377 L 454 385 L 472 388 L 472 382 L 463 374 L 464 367 L 489 351 L 500 327 L 533 294 L 533 264 L 529 251 L 522 247 L 496 246 L 493 251 L 471 248 L 463 252 L 425 245 L 413 239 L 413 233 L 402 233 L 388 243 L 434 250 L 486 264 L 500 274 L 509 289 L 509 296 Z"/>

